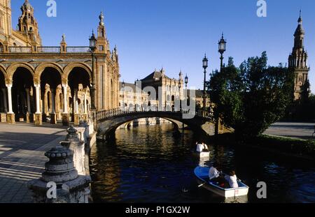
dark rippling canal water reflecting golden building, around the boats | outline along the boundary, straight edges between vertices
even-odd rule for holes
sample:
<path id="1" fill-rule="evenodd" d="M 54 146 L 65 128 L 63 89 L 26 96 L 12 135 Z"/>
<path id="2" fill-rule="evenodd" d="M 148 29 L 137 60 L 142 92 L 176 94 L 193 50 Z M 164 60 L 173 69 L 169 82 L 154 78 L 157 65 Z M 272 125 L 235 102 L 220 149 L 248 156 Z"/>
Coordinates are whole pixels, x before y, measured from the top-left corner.
<path id="1" fill-rule="evenodd" d="M 94 202 L 315 202 L 315 167 L 253 149 L 208 144 L 211 156 L 193 155 L 198 135 L 174 132 L 172 124 L 116 131 L 116 138 L 97 142 L 90 169 Z M 225 200 L 198 188 L 193 170 L 217 162 L 234 169 L 250 189 L 248 197 Z M 256 196 L 258 181 L 267 184 L 267 199 Z"/>

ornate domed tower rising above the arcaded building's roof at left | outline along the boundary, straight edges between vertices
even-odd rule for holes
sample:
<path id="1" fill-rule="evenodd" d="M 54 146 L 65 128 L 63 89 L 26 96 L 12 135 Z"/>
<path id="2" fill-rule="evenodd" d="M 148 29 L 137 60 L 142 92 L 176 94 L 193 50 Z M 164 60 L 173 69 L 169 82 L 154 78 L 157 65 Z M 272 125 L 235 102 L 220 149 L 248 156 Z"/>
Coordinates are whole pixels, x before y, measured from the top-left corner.
<path id="1" fill-rule="evenodd" d="M 34 17 L 34 8 L 25 0 L 21 7 L 22 15 L 18 20 L 18 32 L 27 37 L 31 45 L 41 45 L 41 36 L 38 32 L 38 23 Z"/>

